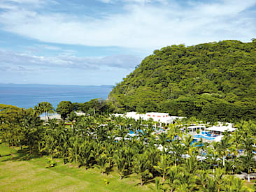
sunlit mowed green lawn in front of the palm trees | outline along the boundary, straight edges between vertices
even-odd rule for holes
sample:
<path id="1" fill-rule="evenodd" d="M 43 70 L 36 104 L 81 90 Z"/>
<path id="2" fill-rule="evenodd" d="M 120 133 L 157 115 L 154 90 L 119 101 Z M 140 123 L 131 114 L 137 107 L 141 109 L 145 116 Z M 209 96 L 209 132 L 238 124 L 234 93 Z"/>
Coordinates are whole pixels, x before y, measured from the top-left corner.
<path id="1" fill-rule="evenodd" d="M 61 159 L 56 160 L 56 167 L 45 168 L 45 156 L 29 156 L 3 144 L 0 154 L 0 191 L 152 191 L 153 187 L 139 186 L 136 175 L 120 180 L 116 170 L 101 175 L 96 168 L 75 168 L 71 163 L 64 165 Z"/>

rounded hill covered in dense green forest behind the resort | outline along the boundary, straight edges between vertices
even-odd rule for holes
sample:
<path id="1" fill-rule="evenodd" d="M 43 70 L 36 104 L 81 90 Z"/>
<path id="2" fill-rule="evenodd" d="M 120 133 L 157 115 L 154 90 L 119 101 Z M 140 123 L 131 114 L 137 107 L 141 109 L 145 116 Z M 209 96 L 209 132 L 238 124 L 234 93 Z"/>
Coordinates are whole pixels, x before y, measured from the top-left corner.
<path id="1" fill-rule="evenodd" d="M 155 50 L 108 96 L 117 111 L 211 121 L 256 118 L 256 40 Z"/>

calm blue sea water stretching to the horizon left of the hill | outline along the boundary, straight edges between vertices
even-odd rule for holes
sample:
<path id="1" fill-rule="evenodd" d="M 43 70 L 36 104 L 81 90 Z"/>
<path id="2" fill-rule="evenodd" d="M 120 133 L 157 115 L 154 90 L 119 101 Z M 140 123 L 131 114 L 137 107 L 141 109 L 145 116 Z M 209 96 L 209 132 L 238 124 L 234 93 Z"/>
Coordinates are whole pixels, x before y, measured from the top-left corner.
<path id="1" fill-rule="evenodd" d="M 0 84 L 0 103 L 34 108 L 34 105 L 46 101 L 57 108 L 61 101 L 85 103 L 93 98 L 106 99 L 112 89 L 112 85 Z"/>

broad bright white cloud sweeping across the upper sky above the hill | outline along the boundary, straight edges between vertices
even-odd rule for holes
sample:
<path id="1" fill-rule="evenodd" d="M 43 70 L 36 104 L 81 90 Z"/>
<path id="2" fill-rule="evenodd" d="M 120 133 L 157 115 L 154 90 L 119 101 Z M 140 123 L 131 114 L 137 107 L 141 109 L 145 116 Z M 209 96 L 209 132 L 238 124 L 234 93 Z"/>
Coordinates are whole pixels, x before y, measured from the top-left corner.
<path id="1" fill-rule="evenodd" d="M 212 3 L 190 1 L 186 6 L 179 6 L 178 1 L 171 1 L 167 5 L 164 0 L 124 2 L 127 2 L 125 13 L 102 13 L 105 16 L 100 18 L 63 13 L 44 14 L 24 7 L 15 11 L 7 8 L 0 14 L 0 22 L 6 31 L 47 43 L 143 50 L 223 39 L 248 41 L 256 36 L 255 17 L 246 17 L 245 13 L 255 5 L 255 0 Z M 165 4 L 156 6 L 154 2 Z"/>

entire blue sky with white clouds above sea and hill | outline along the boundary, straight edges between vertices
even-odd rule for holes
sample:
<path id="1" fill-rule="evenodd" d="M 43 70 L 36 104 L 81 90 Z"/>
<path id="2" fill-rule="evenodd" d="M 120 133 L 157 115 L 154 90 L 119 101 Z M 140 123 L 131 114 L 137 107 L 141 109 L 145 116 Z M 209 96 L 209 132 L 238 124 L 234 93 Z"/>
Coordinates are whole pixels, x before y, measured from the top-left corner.
<path id="1" fill-rule="evenodd" d="M 256 38 L 256 0 L 0 0 L 0 83 L 121 82 L 168 45 Z"/>

